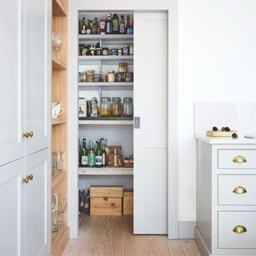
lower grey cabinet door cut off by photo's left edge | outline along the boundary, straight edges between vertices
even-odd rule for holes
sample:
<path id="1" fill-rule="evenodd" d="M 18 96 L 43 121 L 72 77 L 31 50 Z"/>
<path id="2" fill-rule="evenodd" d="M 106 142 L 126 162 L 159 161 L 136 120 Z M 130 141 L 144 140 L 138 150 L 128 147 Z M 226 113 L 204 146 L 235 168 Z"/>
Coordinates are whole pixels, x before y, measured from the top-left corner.
<path id="1" fill-rule="evenodd" d="M 0 167 L 0 255 L 24 255 L 24 170 L 24 158 Z"/>

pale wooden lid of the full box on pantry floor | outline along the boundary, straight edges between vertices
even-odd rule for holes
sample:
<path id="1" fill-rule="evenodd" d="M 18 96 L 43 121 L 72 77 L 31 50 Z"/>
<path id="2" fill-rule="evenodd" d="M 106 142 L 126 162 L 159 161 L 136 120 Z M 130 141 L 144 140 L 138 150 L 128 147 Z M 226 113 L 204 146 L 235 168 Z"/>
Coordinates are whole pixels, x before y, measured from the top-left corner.
<path id="1" fill-rule="evenodd" d="M 122 198 L 122 186 L 90 186 L 90 198 Z"/>

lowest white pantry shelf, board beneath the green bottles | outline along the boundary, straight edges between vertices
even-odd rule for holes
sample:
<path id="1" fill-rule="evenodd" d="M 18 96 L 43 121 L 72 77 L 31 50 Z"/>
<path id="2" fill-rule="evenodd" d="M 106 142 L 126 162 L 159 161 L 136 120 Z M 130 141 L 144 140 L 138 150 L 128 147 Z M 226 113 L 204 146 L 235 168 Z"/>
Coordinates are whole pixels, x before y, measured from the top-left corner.
<path id="1" fill-rule="evenodd" d="M 134 168 L 127 167 L 102 167 L 102 168 L 90 168 L 79 167 L 79 175 L 134 175 Z"/>

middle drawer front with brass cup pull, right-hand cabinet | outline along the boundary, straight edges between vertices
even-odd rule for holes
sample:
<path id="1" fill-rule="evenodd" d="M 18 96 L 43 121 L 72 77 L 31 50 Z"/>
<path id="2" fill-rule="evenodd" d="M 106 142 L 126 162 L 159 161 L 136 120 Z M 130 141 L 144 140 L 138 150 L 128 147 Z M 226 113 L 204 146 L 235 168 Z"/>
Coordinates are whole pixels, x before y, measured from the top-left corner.
<path id="1" fill-rule="evenodd" d="M 218 205 L 256 205 L 256 175 L 218 175 Z"/>

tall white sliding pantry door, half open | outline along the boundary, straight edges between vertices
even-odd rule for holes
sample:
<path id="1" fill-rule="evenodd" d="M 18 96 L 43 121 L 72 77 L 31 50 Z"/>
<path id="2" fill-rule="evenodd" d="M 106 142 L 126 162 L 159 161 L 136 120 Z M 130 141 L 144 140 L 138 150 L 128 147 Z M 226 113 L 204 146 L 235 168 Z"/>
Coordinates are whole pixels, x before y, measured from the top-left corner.
<path id="1" fill-rule="evenodd" d="M 167 14 L 135 13 L 134 24 L 134 233 L 166 234 Z"/>

